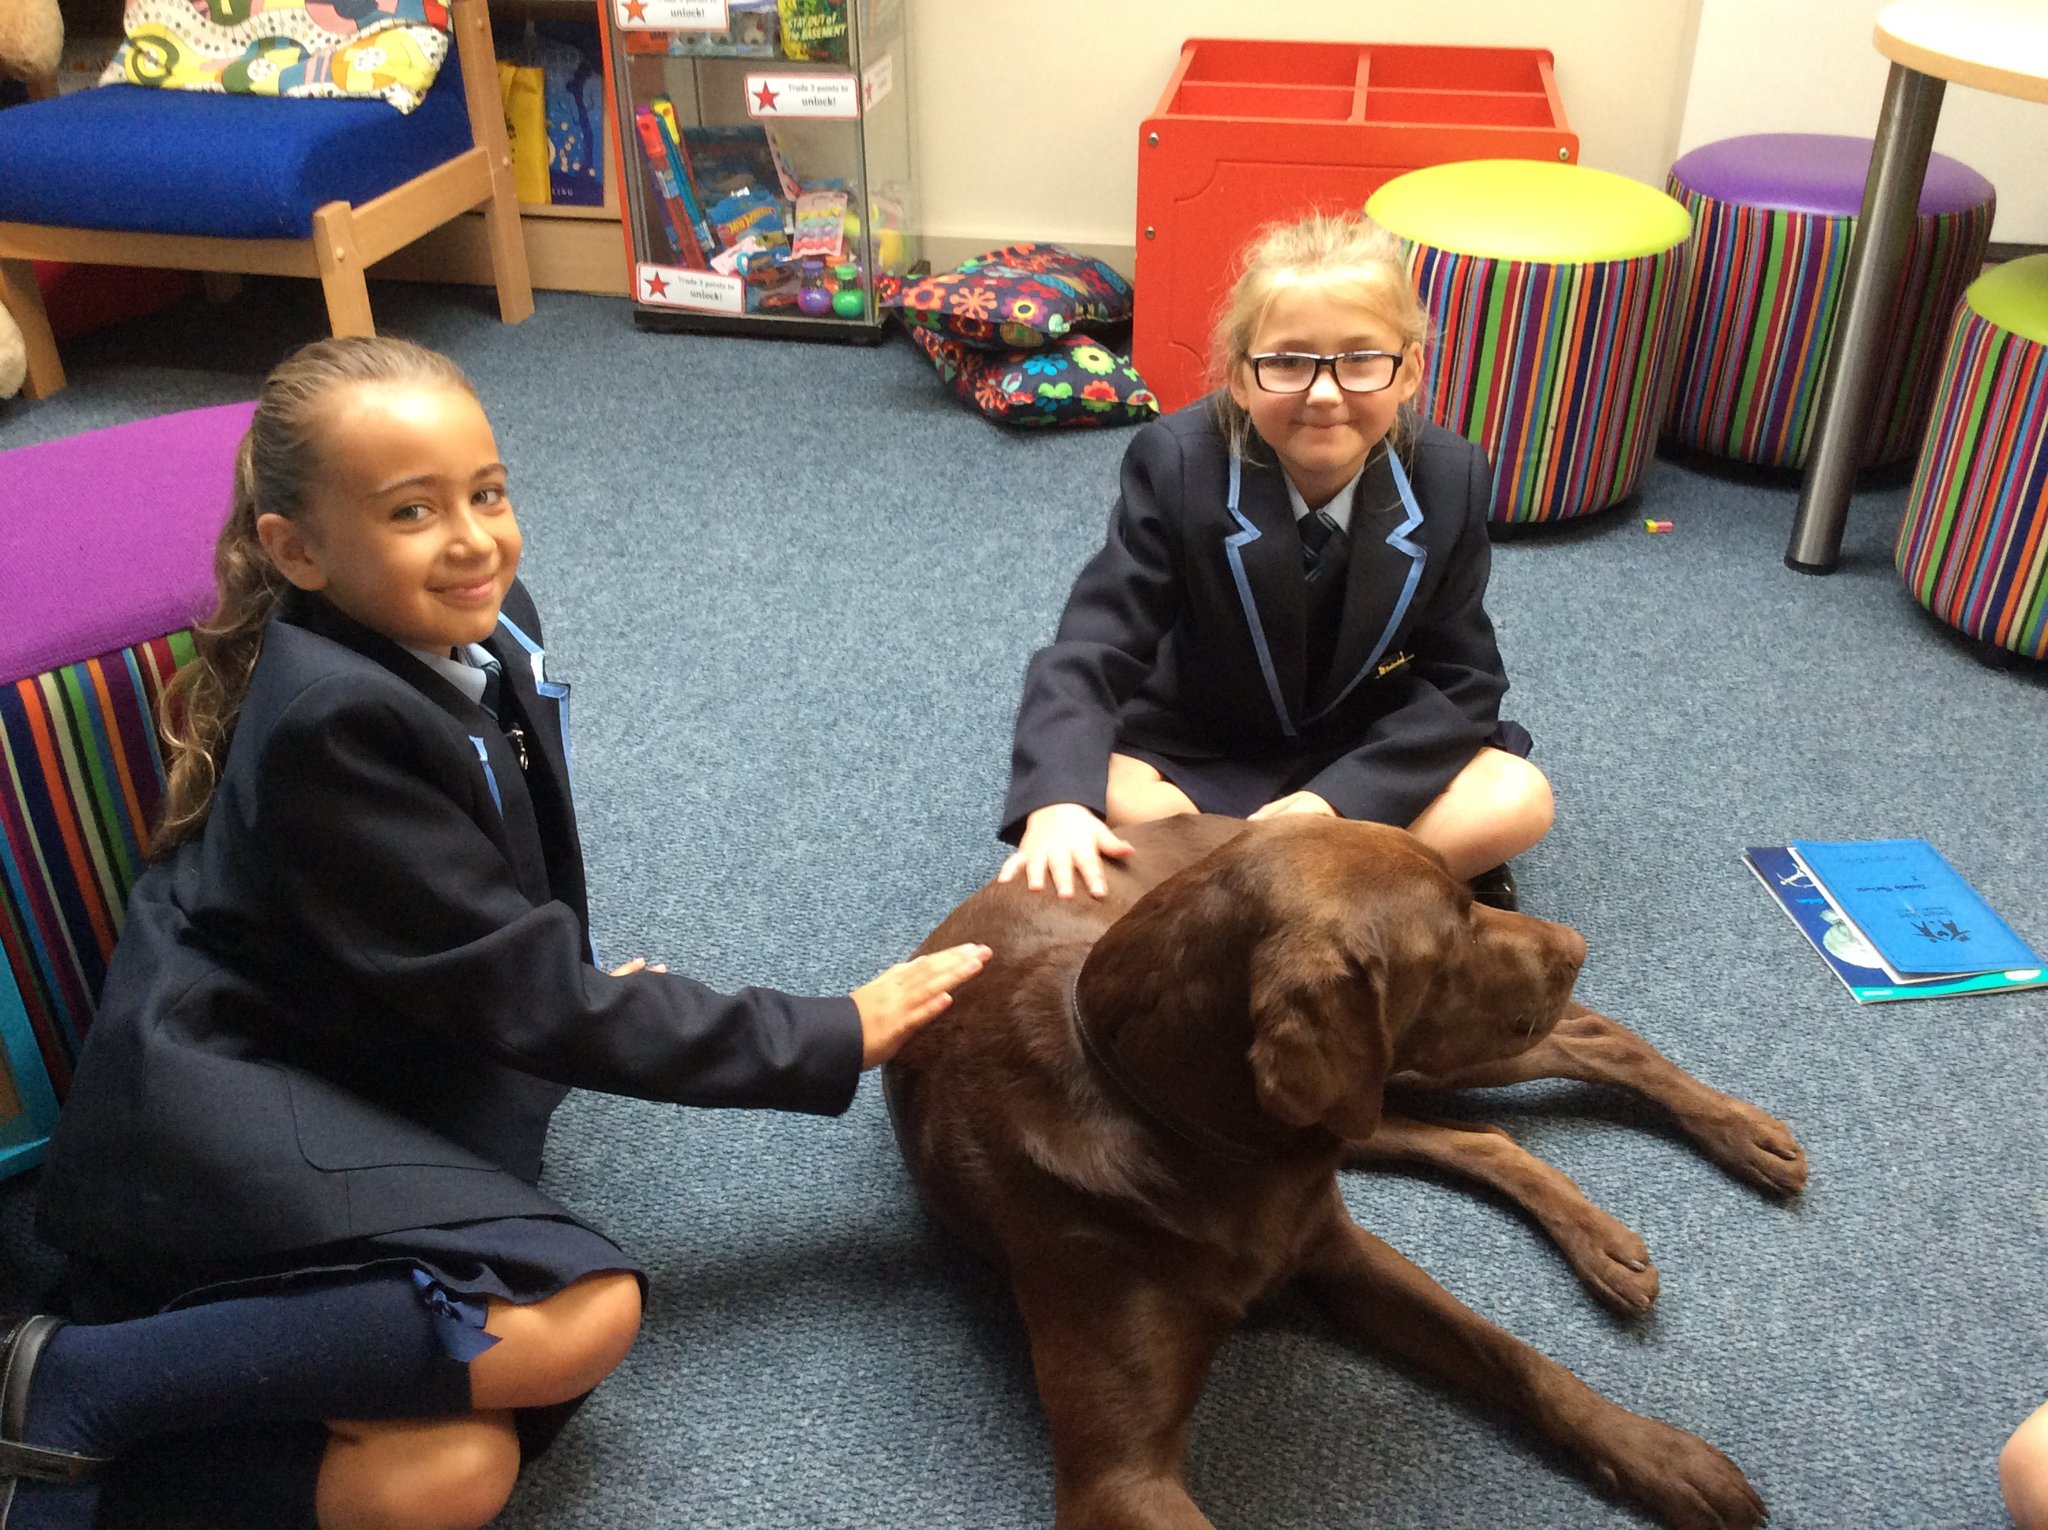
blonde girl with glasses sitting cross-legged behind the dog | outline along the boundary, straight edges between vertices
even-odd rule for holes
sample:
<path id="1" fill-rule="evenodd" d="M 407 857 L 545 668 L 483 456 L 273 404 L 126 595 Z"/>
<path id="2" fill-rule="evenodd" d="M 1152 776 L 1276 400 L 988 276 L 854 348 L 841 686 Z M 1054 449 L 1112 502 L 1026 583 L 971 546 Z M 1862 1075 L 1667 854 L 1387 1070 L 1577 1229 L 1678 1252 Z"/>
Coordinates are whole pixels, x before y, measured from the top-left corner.
<path id="1" fill-rule="evenodd" d="M 1001 881 L 1106 893 L 1174 813 L 1403 825 L 1475 895 L 1550 827 L 1487 617 L 1485 455 L 1417 412 L 1427 315 L 1362 215 L 1264 229 L 1214 391 L 1137 434 L 1102 551 L 1024 676 Z"/>

